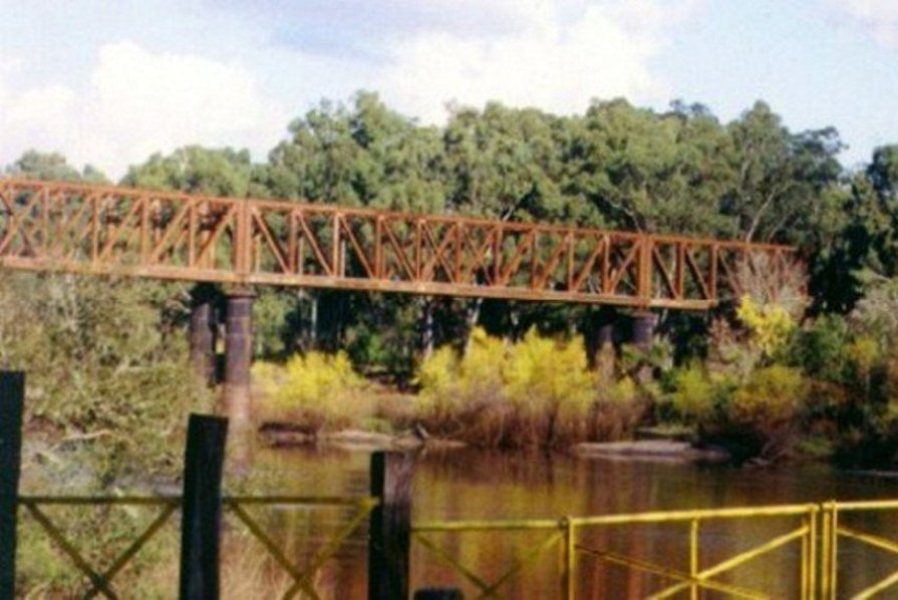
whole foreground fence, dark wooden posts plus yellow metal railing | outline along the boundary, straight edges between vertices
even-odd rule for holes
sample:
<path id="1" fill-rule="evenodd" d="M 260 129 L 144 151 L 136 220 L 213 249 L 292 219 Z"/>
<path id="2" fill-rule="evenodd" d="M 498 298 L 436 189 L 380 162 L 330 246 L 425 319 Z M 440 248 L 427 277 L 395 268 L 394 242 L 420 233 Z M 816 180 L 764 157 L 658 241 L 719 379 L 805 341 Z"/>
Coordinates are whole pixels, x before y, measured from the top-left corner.
<path id="1" fill-rule="evenodd" d="M 49 536 L 59 550 L 84 576 L 85 598 L 117 597 L 114 580 L 146 544 L 181 509 L 180 597 L 216 598 L 219 595 L 219 541 L 222 513 L 227 511 L 270 554 L 289 576 L 284 598 L 304 595 L 318 598 L 315 574 L 333 559 L 341 545 L 364 524 L 368 524 L 368 597 L 407 598 L 410 590 L 412 544 L 447 565 L 459 582 L 473 590 L 474 597 L 501 597 L 510 581 L 554 553 L 558 564 L 559 597 L 566 600 L 578 594 L 577 583 L 585 575 L 588 558 L 634 573 L 649 574 L 661 582 L 650 598 L 682 597 L 692 600 L 706 595 L 730 598 L 769 598 L 774 594 L 761 589 L 764 578 L 750 586 L 727 580 L 734 572 L 761 557 L 789 550 L 796 559 L 794 573 L 797 596 L 802 599 L 871 598 L 898 584 L 898 571 L 871 577 L 860 590 L 848 591 L 839 574 L 846 569 L 842 560 L 847 544 L 857 550 L 898 555 L 898 540 L 886 537 L 881 528 L 870 531 L 870 524 L 855 520 L 898 512 L 898 500 L 871 502 L 827 502 L 716 510 L 667 511 L 588 517 L 563 517 L 558 520 L 491 520 L 412 522 L 411 480 L 414 457 L 409 454 L 378 452 L 371 458 L 371 494 L 366 497 L 322 496 L 228 496 L 221 493 L 227 421 L 216 417 L 192 415 L 188 425 L 183 490 L 179 496 L 157 497 L 60 497 L 20 496 L 18 494 L 21 456 L 21 425 L 24 376 L 0 372 L 0 599 L 15 594 L 17 515 L 27 513 Z M 345 507 L 352 514 L 339 531 L 326 541 L 304 568 L 292 561 L 248 510 L 253 506 Z M 53 521 L 47 507 L 52 506 L 143 506 L 157 513 L 128 546 L 104 568 L 92 565 Z M 750 547 L 729 556 L 706 553 L 703 541 L 714 524 L 736 521 L 776 520 L 782 531 L 755 541 Z M 684 555 L 665 557 L 665 561 L 615 552 L 596 544 L 590 534 L 613 528 L 644 525 L 670 526 L 683 538 Z M 439 542 L 440 536 L 492 532 L 510 534 L 529 532 L 541 536 L 522 546 L 521 555 L 498 576 L 476 573 Z M 593 536 L 594 538 L 595 536 Z M 684 566 L 685 565 L 685 566 Z M 856 578 L 855 578 L 856 579 Z M 853 582 L 857 587 L 857 581 Z M 416 598 L 460 598 L 458 590 L 419 590 Z M 595 596 L 591 596 L 595 597 Z"/>

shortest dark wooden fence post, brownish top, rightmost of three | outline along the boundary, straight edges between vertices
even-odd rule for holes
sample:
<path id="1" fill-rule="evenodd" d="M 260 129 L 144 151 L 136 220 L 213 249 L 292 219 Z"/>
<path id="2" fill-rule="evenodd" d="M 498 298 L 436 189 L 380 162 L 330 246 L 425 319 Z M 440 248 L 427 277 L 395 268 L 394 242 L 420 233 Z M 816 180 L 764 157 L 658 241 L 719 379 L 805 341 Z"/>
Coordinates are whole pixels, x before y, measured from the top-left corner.
<path id="1" fill-rule="evenodd" d="M 414 464 L 412 454 L 371 455 L 371 495 L 380 503 L 368 533 L 369 600 L 408 598 Z"/>

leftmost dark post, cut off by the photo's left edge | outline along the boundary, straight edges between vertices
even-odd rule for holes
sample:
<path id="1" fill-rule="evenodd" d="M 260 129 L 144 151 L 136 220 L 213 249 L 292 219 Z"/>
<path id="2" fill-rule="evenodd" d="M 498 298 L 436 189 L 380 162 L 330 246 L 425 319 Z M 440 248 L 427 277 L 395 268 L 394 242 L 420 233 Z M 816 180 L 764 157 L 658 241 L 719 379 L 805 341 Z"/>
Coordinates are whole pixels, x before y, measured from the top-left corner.
<path id="1" fill-rule="evenodd" d="M 0 598 L 14 598 L 25 374 L 0 371 Z"/>

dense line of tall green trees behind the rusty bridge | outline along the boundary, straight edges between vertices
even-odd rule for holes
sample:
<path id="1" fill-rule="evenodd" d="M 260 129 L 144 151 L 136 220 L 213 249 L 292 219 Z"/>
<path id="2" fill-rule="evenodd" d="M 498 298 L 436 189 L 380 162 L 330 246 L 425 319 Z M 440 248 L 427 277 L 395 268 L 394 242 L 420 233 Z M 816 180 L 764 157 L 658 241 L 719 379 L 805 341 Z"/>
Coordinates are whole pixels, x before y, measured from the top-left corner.
<path id="1" fill-rule="evenodd" d="M 290 123 L 265 162 L 253 163 L 247 151 L 190 146 L 151 156 L 119 183 L 795 244 L 811 267 L 812 310 L 847 313 L 870 281 L 898 270 L 898 146 L 877 149 L 856 171 L 840 164 L 843 147 L 834 128 L 793 132 L 763 102 L 729 123 L 682 102 L 656 112 L 602 101 L 567 117 L 492 103 L 455 108 L 444 127 L 432 127 L 359 93 Z M 95 168 L 79 172 L 59 155 L 36 152 L 6 171 L 104 179 Z M 517 339 L 534 325 L 588 328 L 593 310 L 261 290 L 257 353 L 346 348 L 359 367 L 407 376 L 422 353 L 447 340 L 464 343 L 475 324 Z M 688 332 L 703 322 L 671 314 L 662 326 Z"/>

